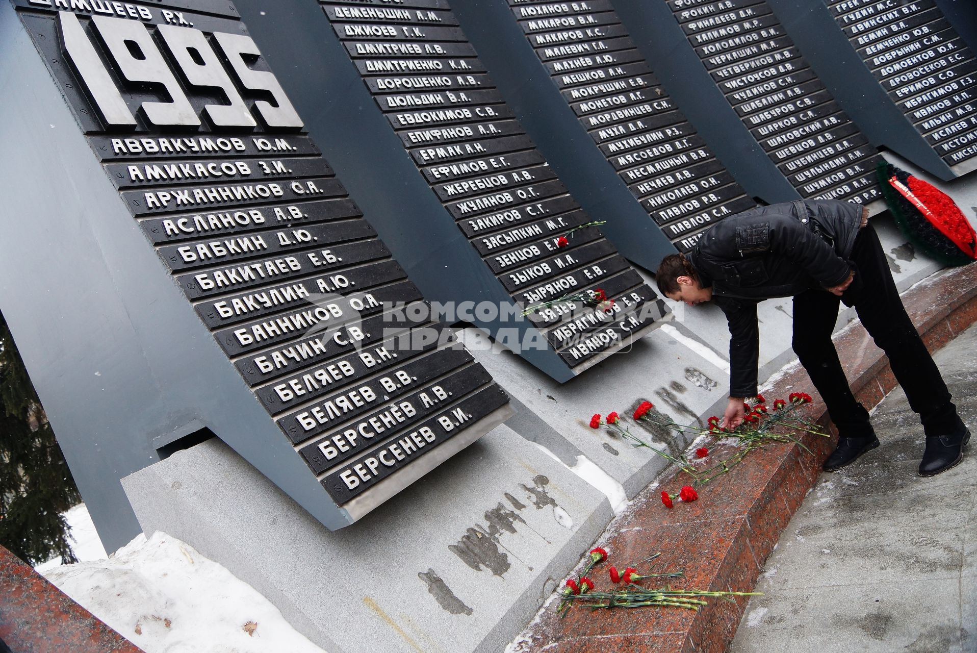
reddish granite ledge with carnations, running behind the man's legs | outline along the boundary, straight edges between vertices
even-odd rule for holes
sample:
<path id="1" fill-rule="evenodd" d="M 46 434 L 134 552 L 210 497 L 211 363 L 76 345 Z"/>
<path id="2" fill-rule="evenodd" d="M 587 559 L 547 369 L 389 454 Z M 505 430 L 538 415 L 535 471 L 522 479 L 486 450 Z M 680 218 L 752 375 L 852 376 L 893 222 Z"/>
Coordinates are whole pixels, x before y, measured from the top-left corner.
<path id="1" fill-rule="evenodd" d="M 933 275 L 903 293 L 903 303 L 930 351 L 940 349 L 977 321 L 977 265 Z M 839 331 L 834 341 L 852 390 L 867 408 L 896 387 L 888 361 L 860 323 Z M 810 393 L 815 401 L 805 407 L 808 418 L 828 425 L 824 405 L 799 366 L 774 380 L 763 394 L 772 403 L 794 391 Z M 642 565 L 641 571 L 683 571 L 684 578 L 672 582 L 674 588 L 754 588 L 790 517 L 817 482 L 836 435 L 828 439 L 805 434 L 801 441 L 813 455 L 792 443 L 770 446 L 701 488 L 700 501 L 677 502 L 671 510 L 661 504 L 660 491 L 675 494 L 689 479 L 676 474 L 674 467 L 666 471 L 658 483 L 635 498 L 606 534 L 602 544 L 610 550 L 611 560 L 591 574 L 597 588 L 611 587 L 606 571 L 611 564 L 622 569 L 657 551 L 662 555 L 651 567 Z M 728 457 L 731 447 L 709 446 L 710 458 Z M 733 640 L 745 604 L 744 597 L 735 603 L 713 599 L 699 612 L 677 608 L 591 611 L 578 605 L 561 619 L 553 603 L 541 621 L 524 633 L 528 641 L 519 650 L 721 653 Z"/>

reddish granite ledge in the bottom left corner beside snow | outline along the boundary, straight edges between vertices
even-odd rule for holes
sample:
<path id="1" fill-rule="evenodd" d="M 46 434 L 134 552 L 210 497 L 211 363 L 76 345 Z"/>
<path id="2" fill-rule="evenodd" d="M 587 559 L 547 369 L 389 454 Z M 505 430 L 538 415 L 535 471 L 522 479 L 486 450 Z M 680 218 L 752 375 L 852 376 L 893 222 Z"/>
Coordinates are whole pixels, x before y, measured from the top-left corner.
<path id="1" fill-rule="evenodd" d="M 0 640 L 14 653 L 142 653 L 3 546 Z"/>

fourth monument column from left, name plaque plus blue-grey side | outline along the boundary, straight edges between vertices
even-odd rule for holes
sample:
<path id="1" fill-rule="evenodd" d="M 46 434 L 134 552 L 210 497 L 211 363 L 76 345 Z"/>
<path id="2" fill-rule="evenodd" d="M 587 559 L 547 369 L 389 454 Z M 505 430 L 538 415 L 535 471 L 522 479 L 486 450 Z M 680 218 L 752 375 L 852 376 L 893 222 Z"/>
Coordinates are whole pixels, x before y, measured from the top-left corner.
<path id="1" fill-rule="evenodd" d="M 614 4 L 663 84 L 748 192 L 768 202 L 832 198 L 884 208 L 874 179 L 878 152 L 767 2 Z"/>

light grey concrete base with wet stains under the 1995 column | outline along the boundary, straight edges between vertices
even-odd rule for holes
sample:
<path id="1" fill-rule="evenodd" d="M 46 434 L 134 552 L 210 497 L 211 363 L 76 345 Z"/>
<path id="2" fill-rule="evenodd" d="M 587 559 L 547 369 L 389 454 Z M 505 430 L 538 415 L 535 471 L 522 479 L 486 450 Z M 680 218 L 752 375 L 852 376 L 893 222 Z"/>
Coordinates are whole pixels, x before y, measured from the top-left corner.
<path id="1" fill-rule="evenodd" d="M 122 484 L 148 535 L 220 562 L 328 653 L 499 651 L 613 517 L 506 426 L 337 532 L 216 438 Z"/>

